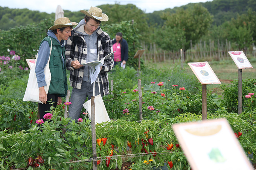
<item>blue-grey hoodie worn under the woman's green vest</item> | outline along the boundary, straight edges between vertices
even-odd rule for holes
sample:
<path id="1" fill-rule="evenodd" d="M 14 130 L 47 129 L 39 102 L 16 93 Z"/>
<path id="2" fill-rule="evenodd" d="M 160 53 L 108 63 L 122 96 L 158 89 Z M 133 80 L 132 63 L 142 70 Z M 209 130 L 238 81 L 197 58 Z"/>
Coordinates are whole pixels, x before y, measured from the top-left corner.
<path id="1" fill-rule="evenodd" d="M 56 35 L 52 32 L 52 31 L 48 31 L 47 32 L 49 37 L 52 37 L 54 39 L 56 39 L 58 42 L 58 38 L 56 37 Z M 61 42 L 59 42 L 59 44 L 61 44 L 61 46 L 64 46 L 64 40 L 61 40 Z M 37 64 L 35 66 L 35 75 L 37 76 L 37 84 L 38 84 L 38 88 L 42 87 L 42 86 L 46 86 L 46 82 L 45 82 L 45 77 L 44 77 L 44 67 L 47 64 L 47 61 L 49 59 L 49 55 L 50 55 L 50 46 L 48 44 L 47 41 L 44 41 L 39 50 L 38 50 L 38 54 L 37 54 Z M 63 64 L 65 63 L 64 58 L 62 56 L 62 61 Z M 64 67 L 64 65 L 63 65 Z"/>

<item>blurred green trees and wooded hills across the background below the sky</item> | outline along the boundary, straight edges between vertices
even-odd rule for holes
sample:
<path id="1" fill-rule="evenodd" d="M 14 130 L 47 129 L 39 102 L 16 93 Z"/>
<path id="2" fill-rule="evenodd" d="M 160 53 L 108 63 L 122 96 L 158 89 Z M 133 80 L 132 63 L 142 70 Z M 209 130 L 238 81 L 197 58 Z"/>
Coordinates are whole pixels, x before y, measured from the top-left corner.
<path id="1" fill-rule="evenodd" d="M 158 47 L 167 51 L 177 51 L 182 48 L 186 52 L 191 42 L 197 43 L 200 40 L 209 41 L 209 39 L 215 42 L 225 42 L 227 39 L 232 42 L 235 50 L 246 51 L 247 48 L 251 48 L 251 44 L 256 39 L 255 0 L 213 0 L 206 3 L 189 3 L 153 13 L 144 13 L 134 4 L 116 3 L 98 7 L 109 16 L 109 21 L 102 22 L 101 27 L 119 24 L 121 21 L 129 21 L 127 23 L 131 21 L 136 24 L 138 30 L 137 40 L 146 44 L 155 42 Z M 79 22 L 84 18 L 84 14 L 79 11 L 64 10 L 64 12 L 64 15 L 72 21 Z M 53 19 L 54 16 L 55 13 L 0 7 L 0 29 L 3 31 L 20 25 L 36 25 L 43 19 Z M 133 24 L 131 26 L 135 29 Z M 118 29 L 115 30 L 118 31 Z M 129 42 L 129 37 L 133 34 L 125 35 L 128 31 L 121 30 Z"/>

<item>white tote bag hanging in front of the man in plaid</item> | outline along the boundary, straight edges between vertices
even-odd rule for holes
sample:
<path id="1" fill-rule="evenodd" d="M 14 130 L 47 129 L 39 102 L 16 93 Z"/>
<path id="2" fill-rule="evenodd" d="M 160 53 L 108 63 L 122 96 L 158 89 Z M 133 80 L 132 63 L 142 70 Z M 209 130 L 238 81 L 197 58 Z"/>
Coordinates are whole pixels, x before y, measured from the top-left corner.
<path id="1" fill-rule="evenodd" d="M 99 78 L 98 78 L 98 86 L 99 86 Z M 95 82 L 93 83 L 93 96 L 95 96 Z M 95 96 L 94 98 L 95 104 L 95 122 L 100 124 L 101 122 L 110 122 L 110 118 L 108 116 L 108 112 L 105 108 L 104 101 L 101 97 L 101 89 L 99 86 L 99 95 Z M 88 112 L 88 117 L 91 120 L 91 100 L 86 101 L 83 104 L 84 108 Z"/>

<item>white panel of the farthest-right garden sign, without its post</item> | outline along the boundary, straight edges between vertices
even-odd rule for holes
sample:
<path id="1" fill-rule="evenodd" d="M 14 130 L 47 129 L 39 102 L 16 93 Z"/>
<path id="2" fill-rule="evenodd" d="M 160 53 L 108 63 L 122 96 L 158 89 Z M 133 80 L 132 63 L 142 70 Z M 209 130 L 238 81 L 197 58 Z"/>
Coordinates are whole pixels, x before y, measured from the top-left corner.
<path id="1" fill-rule="evenodd" d="M 243 51 L 229 51 L 229 55 L 235 62 L 238 69 L 252 69 L 251 63 Z"/>

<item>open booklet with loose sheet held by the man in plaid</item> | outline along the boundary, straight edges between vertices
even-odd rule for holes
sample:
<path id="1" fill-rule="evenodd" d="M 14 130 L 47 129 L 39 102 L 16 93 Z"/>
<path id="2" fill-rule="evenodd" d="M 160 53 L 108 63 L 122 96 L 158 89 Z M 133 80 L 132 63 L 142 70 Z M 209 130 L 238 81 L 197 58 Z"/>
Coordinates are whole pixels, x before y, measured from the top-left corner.
<path id="1" fill-rule="evenodd" d="M 116 51 L 114 51 L 116 52 Z M 88 63 L 81 63 L 81 65 L 84 66 L 90 66 L 90 77 L 91 77 L 91 84 L 96 81 L 99 72 L 101 71 L 101 66 L 104 66 L 104 60 L 108 59 L 114 52 L 111 52 L 110 54 L 106 55 L 104 58 L 101 60 L 96 60 L 96 61 L 91 61 Z"/>

